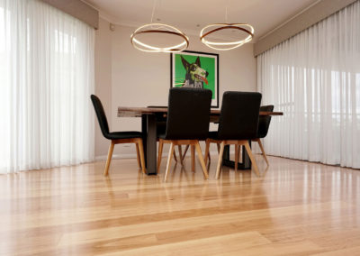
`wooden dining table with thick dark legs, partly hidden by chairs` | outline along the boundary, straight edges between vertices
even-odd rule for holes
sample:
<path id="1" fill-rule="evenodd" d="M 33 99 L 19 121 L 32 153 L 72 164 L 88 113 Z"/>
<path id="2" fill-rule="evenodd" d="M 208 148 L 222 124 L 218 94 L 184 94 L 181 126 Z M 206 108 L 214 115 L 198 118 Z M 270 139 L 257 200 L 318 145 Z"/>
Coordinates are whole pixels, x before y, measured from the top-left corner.
<path id="1" fill-rule="evenodd" d="M 260 115 L 283 115 L 282 112 L 260 112 Z M 148 175 L 157 174 L 157 120 L 164 120 L 166 107 L 118 107 L 118 117 L 141 117 L 141 132 L 143 134 L 145 162 Z M 210 122 L 219 122 L 220 110 L 211 109 Z M 250 143 L 251 145 L 251 143 Z M 242 162 L 238 169 L 251 169 L 251 161 L 246 151 L 242 151 Z M 234 167 L 234 161 L 229 159 L 229 146 L 225 147 L 223 165 Z"/>

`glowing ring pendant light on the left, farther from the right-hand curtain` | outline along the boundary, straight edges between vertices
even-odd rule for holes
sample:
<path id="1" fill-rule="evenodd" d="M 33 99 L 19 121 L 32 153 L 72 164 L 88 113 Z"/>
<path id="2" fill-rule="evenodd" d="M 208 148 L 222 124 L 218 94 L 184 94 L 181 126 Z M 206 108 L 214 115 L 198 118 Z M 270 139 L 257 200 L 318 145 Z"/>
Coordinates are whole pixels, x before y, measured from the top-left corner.
<path id="1" fill-rule="evenodd" d="M 139 34 L 155 36 L 157 33 L 178 36 L 182 39 L 182 42 L 176 45 L 159 47 L 156 45 L 149 45 L 143 41 L 139 41 L 139 39 L 136 38 L 136 36 Z M 161 23 L 149 23 L 140 26 L 135 32 L 131 34 L 130 41 L 132 46 L 136 49 L 147 52 L 178 52 L 185 50 L 189 46 L 189 38 L 184 34 L 184 32 L 179 31 L 173 26 Z"/>

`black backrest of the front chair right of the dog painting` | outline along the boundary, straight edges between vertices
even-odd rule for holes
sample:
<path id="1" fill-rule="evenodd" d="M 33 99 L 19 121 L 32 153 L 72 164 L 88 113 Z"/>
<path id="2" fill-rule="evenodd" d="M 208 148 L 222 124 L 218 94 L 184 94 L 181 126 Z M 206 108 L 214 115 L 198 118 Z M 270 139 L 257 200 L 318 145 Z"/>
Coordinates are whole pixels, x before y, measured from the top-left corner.
<path id="1" fill-rule="evenodd" d="M 220 140 L 250 140 L 257 137 L 261 94 L 225 92 L 222 96 Z"/>

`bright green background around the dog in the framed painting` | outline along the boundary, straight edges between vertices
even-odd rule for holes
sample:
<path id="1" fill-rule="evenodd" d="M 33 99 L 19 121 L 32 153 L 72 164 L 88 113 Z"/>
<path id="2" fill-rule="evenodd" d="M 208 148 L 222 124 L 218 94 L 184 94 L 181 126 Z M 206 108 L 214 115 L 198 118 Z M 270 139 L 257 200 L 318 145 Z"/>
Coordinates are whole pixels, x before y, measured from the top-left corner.
<path id="1" fill-rule="evenodd" d="M 175 54 L 175 84 L 183 83 L 185 79 L 186 70 L 183 66 L 183 62 L 181 61 L 181 57 L 183 56 L 187 62 L 194 63 L 198 56 L 196 55 L 187 55 L 186 53 Z M 210 89 L 212 91 L 212 99 L 215 98 L 215 58 L 213 57 L 203 57 L 200 56 L 201 68 L 205 69 L 209 72 L 207 77 L 209 85 L 203 83 L 203 88 Z M 181 87 L 182 85 L 175 85 L 175 87 Z"/>

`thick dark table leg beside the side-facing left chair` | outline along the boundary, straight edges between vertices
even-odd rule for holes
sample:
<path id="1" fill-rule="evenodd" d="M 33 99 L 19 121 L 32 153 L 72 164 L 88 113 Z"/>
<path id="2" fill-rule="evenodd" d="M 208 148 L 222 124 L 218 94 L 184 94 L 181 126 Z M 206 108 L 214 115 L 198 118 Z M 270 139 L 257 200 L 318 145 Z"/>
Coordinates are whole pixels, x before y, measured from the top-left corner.
<path id="1" fill-rule="evenodd" d="M 143 114 L 141 118 L 144 136 L 145 159 L 148 175 L 157 174 L 157 119 L 155 114 Z"/>

